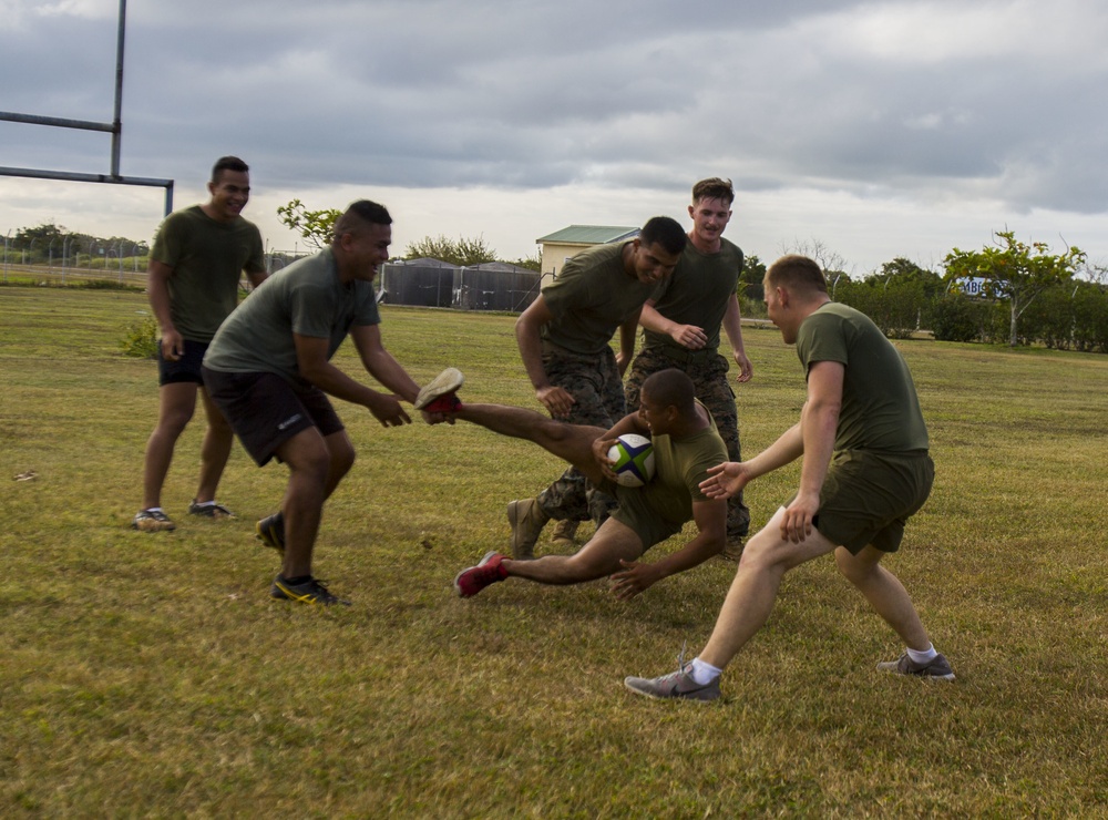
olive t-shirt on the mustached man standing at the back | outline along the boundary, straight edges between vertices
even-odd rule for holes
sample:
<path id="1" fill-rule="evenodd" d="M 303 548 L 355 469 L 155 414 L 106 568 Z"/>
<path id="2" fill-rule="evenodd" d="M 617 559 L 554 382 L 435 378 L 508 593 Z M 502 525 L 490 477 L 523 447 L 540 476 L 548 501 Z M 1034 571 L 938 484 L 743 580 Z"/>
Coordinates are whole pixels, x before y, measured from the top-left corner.
<path id="1" fill-rule="evenodd" d="M 678 325 L 696 325 L 708 336 L 706 347 L 719 347 L 719 328 L 727 304 L 735 295 L 742 270 L 742 250 L 720 239 L 719 253 L 705 254 L 693 243 L 685 245 L 680 262 L 664 279 L 655 297 L 654 309 Z M 668 334 L 644 330 L 646 347 L 679 347 Z"/>

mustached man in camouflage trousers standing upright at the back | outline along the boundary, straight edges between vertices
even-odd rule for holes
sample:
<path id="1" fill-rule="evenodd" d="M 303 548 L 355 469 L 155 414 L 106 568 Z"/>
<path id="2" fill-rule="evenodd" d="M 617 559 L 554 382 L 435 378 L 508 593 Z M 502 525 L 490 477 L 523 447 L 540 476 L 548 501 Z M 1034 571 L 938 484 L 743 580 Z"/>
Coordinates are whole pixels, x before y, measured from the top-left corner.
<path id="1" fill-rule="evenodd" d="M 638 407 L 643 380 L 675 367 L 696 385 L 696 397 L 711 411 L 730 461 L 741 461 L 739 417 L 735 391 L 727 380 L 728 362 L 719 355 L 722 328 L 739 368 L 736 381 L 750 380 L 753 370 L 742 344 L 742 325 L 736 287 L 742 270 L 742 250 L 724 238 L 731 218 L 735 189 L 730 180 L 712 177 L 693 186 L 689 242 L 673 275 L 643 306 L 643 350 L 627 376 L 627 409 Z M 722 557 L 738 561 L 742 539 L 750 529 L 750 511 L 742 493 L 727 501 L 727 547 Z"/>

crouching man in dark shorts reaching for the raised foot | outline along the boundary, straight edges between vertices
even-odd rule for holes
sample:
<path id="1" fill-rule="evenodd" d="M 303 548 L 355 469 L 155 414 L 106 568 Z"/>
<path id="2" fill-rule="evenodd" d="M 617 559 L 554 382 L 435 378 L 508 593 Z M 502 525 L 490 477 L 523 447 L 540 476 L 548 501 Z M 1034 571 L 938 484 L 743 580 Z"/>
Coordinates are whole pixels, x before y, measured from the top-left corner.
<path id="1" fill-rule="evenodd" d="M 372 280 L 389 258 L 392 217 L 353 203 L 335 223 L 330 247 L 275 274 L 223 324 L 204 357 L 204 383 L 259 467 L 289 470 L 280 512 L 258 536 L 283 553 L 269 594 L 283 601 L 340 601 L 311 574 L 324 502 L 353 464 L 355 451 L 328 396 L 361 404 L 384 427 L 411 421 L 400 399 L 419 387 L 384 349 Z M 349 336 L 366 371 L 392 393 L 331 365 Z"/>

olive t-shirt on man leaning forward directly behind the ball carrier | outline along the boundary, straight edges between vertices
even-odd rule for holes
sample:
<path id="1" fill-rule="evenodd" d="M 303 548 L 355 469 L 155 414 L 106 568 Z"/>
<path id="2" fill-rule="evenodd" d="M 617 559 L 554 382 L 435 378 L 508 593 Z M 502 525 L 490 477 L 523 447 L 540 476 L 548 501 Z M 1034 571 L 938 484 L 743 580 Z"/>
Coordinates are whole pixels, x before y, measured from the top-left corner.
<path id="1" fill-rule="evenodd" d="M 642 310 L 658 285 L 624 270 L 625 245 L 582 250 L 543 287 L 543 300 L 554 317 L 543 326 L 544 340 L 575 353 L 599 353 L 619 326 Z"/>

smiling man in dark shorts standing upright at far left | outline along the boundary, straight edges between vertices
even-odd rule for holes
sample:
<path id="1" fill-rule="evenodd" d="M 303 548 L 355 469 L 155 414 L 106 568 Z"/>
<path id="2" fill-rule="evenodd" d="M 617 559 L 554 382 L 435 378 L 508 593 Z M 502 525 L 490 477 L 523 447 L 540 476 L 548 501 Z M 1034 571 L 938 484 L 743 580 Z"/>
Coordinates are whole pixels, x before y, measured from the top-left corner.
<path id="1" fill-rule="evenodd" d="M 229 517 L 216 503 L 215 491 L 230 454 L 234 435 L 201 378 L 201 361 L 212 337 L 238 304 L 238 280 L 246 271 L 257 287 L 266 279 L 261 234 L 243 218 L 250 198 L 246 163 L 224 156 L 212 168 L 211 198 L 203 205 L 170 214 L 154 237 L 146 290 L 161 329 L 157 346 L 157 426 L 146 442 L 142 509 L 131 526 L 165 532 L 174 523 L 162 509 L 162 485 L 170 472 L 177 439 L 204 401 L 207 431 L 201 445 L 201 478 L 188 512 Z"/>

